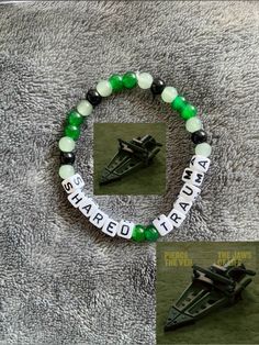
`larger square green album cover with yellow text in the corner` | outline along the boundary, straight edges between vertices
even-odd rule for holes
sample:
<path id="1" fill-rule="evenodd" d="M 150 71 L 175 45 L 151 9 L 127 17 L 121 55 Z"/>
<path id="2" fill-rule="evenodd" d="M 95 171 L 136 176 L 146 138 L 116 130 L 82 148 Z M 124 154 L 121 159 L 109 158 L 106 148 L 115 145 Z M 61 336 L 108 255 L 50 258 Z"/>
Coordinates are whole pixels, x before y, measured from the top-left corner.
<path id="1" fill-rule="evenodd" d="M 259 344 L 258 242 L 157 243 L 157 345 Z"/>

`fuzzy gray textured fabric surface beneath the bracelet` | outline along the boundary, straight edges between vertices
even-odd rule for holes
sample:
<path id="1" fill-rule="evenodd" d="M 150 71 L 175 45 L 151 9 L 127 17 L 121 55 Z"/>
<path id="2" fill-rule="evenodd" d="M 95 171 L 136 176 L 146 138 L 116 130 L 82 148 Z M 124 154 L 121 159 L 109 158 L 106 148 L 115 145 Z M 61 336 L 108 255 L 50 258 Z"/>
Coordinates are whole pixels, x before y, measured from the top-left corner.
<path id="1" fill-rule="evenodd" d="M 57 176 L 65 113 L 112 71 L 164 77 L 209 114 L 214 147 L 202 198 L 165 241 L 258 240 L 259 2 L 37 2 L 0 14 L 0 343 L 154 344 L 155 245 L 109 240 L 68 205 Z M 167 194 L 99 197 L 108 212 L 145 222 L 168 212 L 192 145 L 146 92 L 94 112 L 162 118 Z M 89 189 L 92 121 L 78 145 Z"/>

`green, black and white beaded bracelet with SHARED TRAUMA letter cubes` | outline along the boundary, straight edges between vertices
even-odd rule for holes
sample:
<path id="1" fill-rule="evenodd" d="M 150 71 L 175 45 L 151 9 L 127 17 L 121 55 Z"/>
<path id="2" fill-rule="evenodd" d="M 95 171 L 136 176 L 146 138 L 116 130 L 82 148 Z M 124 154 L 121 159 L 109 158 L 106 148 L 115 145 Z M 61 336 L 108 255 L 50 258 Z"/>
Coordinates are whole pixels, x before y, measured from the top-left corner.
<path id="1" fill-rule="evenodd" d="M 94 107 L 102 98 L 123 89 L 133 89 L 138 86 L 140 89 L 149 89 L 153 94 L 160 94 L 166 103 L 171 104 L 171 109 L 180 113 L 185 121 L 185 129 L 191 133 L 192 142 L 195 146 L 195 155 L 191 158 L 190 167 L 184 169 L 182 181 L 184 182 L 173 208 L 168 215 L 160 214 L 148 226 L 135 225 L 133 222 L 122 220 L 120 222 L 111 219 L 105 212 L 101 211 L 99 205 L 82 191 L 83 179 L 75 172 L 72 164 L 75 163 L 76 141 L 80 135 L 80 126 L 85 119 L 89 116 Z M 165 236 L 173 227 L 179 227 L 190 211 L 192 203 L 201 192 L 204 172 L 207 171 L 211 160 L 211 146 L 206 143 L 206 133 L 203 130 L 201 120 L 196 116 L 198 110 L 190 104 L 182 96 L 178 94 L 176 88 L 166 86 L 160 78 L 153 79 L 148 73 L 127 71 L 123 76 L 112 75 L 109 80 L 98 82 L 95 89 L 87 92 L 87 100 L 79 102 L 76 109 L 67 115 L 65 125 L 65 136 L 59 141 L 60 168 L 59 176 L 63 179 L 63 187 L 69 194 L 68 200 L 78 208 L 89 221 L 100 229 L 103 233 L 114 237 L 132 238 L 136 242 L 156 241 L 159 235 Z"/>

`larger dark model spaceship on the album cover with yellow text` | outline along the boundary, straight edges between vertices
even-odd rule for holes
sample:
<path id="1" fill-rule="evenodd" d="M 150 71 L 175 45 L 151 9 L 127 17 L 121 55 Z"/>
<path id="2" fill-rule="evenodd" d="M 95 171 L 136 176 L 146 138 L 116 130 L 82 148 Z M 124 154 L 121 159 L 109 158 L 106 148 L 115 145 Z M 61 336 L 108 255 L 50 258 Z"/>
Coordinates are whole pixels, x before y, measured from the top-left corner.
<path id="1" fill-rule="evenodd" d="M 165 331 L 194 323 L 221 307 L 235 304 L 241 299 L 241 291 L 252 281 L 247 276 L 256 275 L 244 264 L 214 264 L 209 268 L 193 265 L 192 269 L 192 282 L 171 307 Z"/>

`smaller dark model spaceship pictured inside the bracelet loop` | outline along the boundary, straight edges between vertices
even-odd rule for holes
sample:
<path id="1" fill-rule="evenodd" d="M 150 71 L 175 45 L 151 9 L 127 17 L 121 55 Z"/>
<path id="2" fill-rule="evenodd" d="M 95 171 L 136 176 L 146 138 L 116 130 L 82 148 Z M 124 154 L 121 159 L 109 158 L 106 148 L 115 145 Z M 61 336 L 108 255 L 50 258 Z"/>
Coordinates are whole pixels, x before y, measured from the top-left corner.
<path id="1" fill-rule="evenodd" d="M 150 165 L 160 151 L 159 146 L 162 146 L 149 134 L 128 142 L 122 138 L 117 141 L 119 152 L 104 168 L 100 185 L 121 179 L 133 170 Z"/>

